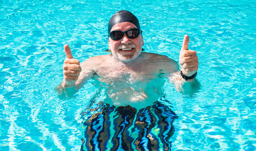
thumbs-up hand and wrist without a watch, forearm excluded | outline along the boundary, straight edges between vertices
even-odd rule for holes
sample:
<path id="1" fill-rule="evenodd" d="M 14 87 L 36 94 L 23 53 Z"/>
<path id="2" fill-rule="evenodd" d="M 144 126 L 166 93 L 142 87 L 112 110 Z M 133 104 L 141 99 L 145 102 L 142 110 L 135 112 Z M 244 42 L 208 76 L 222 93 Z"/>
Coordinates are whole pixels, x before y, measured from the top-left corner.
<path id="1" fill-rule="evenodd" d="M 63 81 L 62 87 L 73 87 L 81 72 L 80 62 L 74 59 L 69 45 L 64 45 L 64 51 L 67 58 L 63 64 Z"/>

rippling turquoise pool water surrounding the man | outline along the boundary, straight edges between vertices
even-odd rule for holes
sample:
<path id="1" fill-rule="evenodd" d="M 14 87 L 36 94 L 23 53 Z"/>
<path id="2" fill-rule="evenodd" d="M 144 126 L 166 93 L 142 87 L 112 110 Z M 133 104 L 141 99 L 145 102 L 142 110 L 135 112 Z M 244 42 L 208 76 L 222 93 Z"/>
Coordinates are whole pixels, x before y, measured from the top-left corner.
<path id="1" fill-rule="evenodd" d="M 140 20 L 144 49 L 178 61 L 183 36 L 199 57 L 199 92 L 166 82 L 172 150 L 256 149 L 255 1 L 1 1 L 0 150 L 79 150 L 89 81 L 60 98 L 63 45 L 80 61 L 108 54 L 107 24 L 118 10 Z M 172 107 L 171 107 L 172 106 Z"/>

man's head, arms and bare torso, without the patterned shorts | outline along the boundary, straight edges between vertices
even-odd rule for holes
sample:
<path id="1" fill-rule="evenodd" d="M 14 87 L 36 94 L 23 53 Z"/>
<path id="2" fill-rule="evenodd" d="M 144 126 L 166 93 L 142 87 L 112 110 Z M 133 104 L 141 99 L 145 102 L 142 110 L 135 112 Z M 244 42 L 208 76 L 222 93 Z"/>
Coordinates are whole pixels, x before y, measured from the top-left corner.
<path id="1" fill-rule="evenodd" d="M 67 58 L 63 64 L 63 81 L 57 90 L 62 93 L 68 89 L 76 91 L 95 78 L 108 87 L 111 101 L 107 103 L 145 107 L 162 94 L 162 85 L 152 83 L 153 79 L 164 75 L 175 83 L 178 91 L 183 83 L 193 83 L 199 63 L 196 52 L 188 50 L 188 35 L 184 36 L 180 51 L 179 71 L 177 62 L 167 56 L 141 52 L 144 45 L 141 33 L 137 17 L 129 11 L 119 11 L 109 21 L 110 54 L 90 57 L 80 63 L 65 45 Z"/>

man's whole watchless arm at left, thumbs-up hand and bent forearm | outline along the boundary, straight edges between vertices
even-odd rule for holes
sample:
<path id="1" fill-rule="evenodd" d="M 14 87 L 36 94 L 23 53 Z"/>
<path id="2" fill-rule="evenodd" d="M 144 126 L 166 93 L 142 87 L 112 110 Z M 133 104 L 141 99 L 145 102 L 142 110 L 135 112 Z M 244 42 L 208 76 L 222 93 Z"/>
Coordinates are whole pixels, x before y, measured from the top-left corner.
<path id="1" fill-rule="evenodd" d="M 81 68 L 78 59 L 74 59 L 68 45 L 64 46 L 67 58 L 63 63 L 63 81 L 56 87 L 59 95 L 74 94 L 85 84 L 94 74 L 93 70 Z"/>

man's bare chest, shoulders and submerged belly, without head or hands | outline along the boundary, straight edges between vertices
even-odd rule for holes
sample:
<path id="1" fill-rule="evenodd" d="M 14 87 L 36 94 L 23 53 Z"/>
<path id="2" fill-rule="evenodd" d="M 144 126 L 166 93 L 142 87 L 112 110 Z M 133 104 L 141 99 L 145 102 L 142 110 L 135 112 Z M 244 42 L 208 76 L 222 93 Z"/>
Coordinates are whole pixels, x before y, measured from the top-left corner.
<path id="1" fill-rule="evenodd" d="M 153 53 L 141 53 L 127 63 L 111 54 L 97 56 L 83 62 L 81 67 L 83 72 L 88 72 L 88 69 L 95 72 L 94 79 L 104 83 L 111 98 L 106 103 L 130 104 L 137 108 L 151 105 L 161 96 L 162 74 L 177 71 L 174 60 Z"/>

